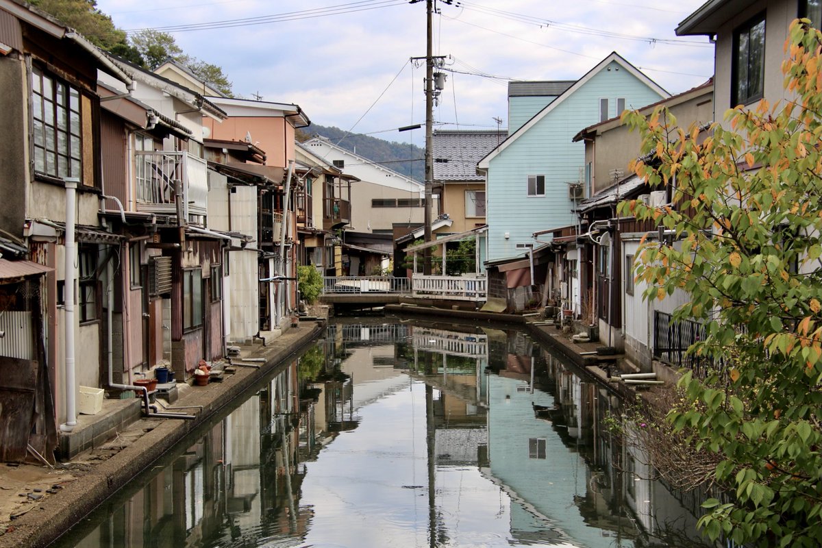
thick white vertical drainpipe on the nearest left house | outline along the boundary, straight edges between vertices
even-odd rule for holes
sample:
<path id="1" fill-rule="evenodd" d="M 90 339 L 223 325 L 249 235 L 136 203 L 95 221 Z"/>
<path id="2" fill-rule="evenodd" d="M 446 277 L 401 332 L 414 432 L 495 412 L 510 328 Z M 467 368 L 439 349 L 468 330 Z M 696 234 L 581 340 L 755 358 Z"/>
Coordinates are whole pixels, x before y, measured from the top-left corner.
<path id="1" fill-rule="evenodd" d="M 60 425 L 63 432 L 71 432 L 77 424 L 76 380 L 74 375 L 74 263 L 77 252 L 74 244 L 74 225 L 77 208 L 77 183 L 80 179 L 67 177 L 66 182 L 66 280 L 63 297 L 66 303 L 63 321 L 66 328 L 66 422 Z"/>

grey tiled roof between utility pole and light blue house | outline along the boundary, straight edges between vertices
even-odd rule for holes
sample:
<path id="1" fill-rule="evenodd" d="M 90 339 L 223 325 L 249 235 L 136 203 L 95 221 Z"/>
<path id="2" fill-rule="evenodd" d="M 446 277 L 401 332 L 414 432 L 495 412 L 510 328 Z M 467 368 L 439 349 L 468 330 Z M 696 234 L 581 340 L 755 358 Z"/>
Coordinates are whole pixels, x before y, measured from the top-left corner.
<path id="1" fill-rule="evenodd" d="M 485 181 L 477 163 L 508 136 L 507 131 L 435 131 L 432 137 L 434 181 Z"/>

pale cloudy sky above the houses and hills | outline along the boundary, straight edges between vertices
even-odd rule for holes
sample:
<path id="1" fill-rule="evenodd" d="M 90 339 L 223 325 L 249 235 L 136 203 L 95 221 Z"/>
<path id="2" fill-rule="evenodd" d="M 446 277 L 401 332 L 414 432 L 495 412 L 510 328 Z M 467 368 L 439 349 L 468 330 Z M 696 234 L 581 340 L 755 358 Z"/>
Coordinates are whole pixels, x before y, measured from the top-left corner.
<path id="1" fill-rule="evenodd" d="M 617 51 L 672 94 L 713 74 L 713 45 L 674 29 L 702 0 L 437 2 L 434 54 L 448 79 L 436 127 L 507 126 L 507 79 L 576 80 Z M 235 94 L 298 104 L 312 122 L 422 144 L 425 2 L 97 0 L 134 32 L 171 25 L 183 50 L 223 67 Z M 237 21 L 243 20 L 243 21 Z M 226 23 L 225 21 L 233 21 Z M 215 23 L 215 25 L 205 25 Z M 187 27 L 190 28 L 190 27 Z M 479 76 L 484 75 L 484 76 Z M 490 76 L 496 76 L 492 78 Z M 393 130 L 393 131 L 391 131 Z"/>

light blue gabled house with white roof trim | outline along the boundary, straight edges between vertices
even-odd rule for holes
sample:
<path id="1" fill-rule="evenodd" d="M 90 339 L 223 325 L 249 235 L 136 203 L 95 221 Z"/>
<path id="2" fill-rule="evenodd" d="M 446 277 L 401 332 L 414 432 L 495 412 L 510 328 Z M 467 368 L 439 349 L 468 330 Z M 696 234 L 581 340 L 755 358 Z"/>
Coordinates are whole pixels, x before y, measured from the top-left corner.
<path id="1" fill-rule="evenodd" d="M 538 230 L 576 222 L 585 197 L 577 131 L 668 94 L 617 53 L 580 80 L 511 82 L 509 136 L 478 163 L 486 175 L 487 258 L 522 256 Z"/>

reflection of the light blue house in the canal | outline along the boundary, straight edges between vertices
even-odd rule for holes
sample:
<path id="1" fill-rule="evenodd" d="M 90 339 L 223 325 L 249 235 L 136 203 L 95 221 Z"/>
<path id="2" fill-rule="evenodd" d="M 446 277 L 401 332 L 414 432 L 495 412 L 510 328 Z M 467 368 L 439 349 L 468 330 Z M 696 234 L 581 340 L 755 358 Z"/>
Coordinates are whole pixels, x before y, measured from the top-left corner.
<path id="1" fill-rule="evenodd" d="M 605 546 L 603 530 L 585 523 L 577 506 L 587 495 L 589 469 L 580 454 L 569 454 L 557 429 L 537 418 L 531 403 L 553 407 L 554 400 L 527 383 L 489 375 L 488 455 L 492 477 L 524 511 L 511 508 L 511 531 L 555 538 L 577 546 Z M 540 518 L 541 517 L 541 518 Z M 530 535 L 529 535 L 530 532 Z"/>

